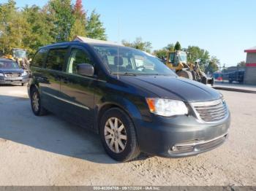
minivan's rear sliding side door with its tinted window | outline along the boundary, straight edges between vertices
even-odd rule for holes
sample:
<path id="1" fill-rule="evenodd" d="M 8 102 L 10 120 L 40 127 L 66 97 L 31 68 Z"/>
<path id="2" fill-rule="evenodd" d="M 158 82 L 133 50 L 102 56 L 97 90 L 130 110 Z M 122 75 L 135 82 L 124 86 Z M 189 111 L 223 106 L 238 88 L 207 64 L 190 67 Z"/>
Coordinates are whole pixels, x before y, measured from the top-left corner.
<path id="1" fill-rule="evenodd" d="M 42 90 L 43 105 L 56 114 L 62 112 L 60 109 L 61 99 L 61 73 L 67 59 L 67 47 L 55 47 L 48 50 L 48 56 L 45 61 L 45 69 L 41 71 L 42 80 L 40 89 Z"/>

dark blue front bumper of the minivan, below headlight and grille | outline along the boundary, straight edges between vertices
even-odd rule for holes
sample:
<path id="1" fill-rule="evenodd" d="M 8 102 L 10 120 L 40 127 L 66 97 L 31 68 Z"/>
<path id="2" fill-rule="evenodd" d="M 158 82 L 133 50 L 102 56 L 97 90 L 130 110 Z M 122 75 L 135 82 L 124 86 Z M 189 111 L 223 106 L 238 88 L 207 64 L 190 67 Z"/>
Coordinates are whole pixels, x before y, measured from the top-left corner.
<path id="1" fill-rule="evenodd" d="M 206 123 L 193 116 L 159 117 L 135 122 L 140 149 L 150 155 L 187 157 L 219 147 L 227 139 L 230 113 L 224 120 Z"/>

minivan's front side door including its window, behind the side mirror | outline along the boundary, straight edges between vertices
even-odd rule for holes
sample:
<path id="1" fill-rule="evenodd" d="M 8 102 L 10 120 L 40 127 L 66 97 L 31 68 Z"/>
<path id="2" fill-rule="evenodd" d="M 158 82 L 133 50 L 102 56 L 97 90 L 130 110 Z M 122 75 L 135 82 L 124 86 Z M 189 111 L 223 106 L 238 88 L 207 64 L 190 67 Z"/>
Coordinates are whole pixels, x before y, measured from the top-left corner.
<path id="1" fill-rule="evenodd" d="M 72 46 L 66 71 L 61 75 L 61 99 L 67 111 L 66 118 L 84 128 L 93 128 L 95 77 L 79 75 L 77 66 L 80 63 L 94 65 L 84 47 Z"/>

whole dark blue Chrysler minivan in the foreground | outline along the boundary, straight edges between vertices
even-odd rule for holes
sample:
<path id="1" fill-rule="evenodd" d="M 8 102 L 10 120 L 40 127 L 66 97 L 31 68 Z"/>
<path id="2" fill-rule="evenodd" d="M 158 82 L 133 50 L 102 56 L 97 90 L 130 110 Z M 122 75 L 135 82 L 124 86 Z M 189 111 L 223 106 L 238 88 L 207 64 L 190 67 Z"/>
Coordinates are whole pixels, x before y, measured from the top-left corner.
<path id="1" fill-rule="evenodd" d="M 50 111 L 94 130 L 115 160 L 132 160 L 140 152 L 197 155 L 227 139 L 230 112 L 222 94 L 177 77 L 140 50 L 94 42 L 51 44 L 34 55 L 31 71 L 34 114 Z"/>

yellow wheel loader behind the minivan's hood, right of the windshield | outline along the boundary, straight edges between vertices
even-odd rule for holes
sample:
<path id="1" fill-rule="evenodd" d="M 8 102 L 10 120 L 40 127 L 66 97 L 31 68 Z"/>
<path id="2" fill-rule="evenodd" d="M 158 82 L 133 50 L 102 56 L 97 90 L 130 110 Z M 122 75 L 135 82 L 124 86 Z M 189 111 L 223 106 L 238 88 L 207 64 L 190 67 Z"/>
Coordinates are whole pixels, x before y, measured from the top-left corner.
<path id="1" fill-rule="evenodd" d="M 202 82 L 205 85 L 214 85 L 214 78 L 206 77 L 206 74 L 200 70 L 198 62 L 187 62 L 187 52 L 181 50 L 167 52 L 165 64 L 169 69 L 176 71 L 179 77 Z"/>

